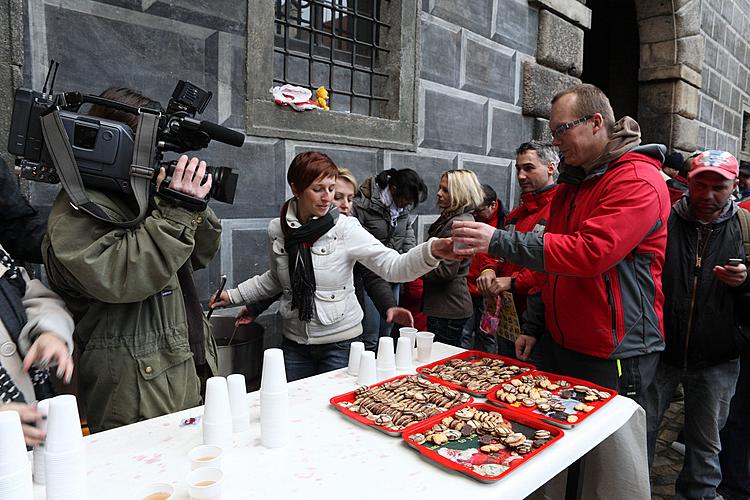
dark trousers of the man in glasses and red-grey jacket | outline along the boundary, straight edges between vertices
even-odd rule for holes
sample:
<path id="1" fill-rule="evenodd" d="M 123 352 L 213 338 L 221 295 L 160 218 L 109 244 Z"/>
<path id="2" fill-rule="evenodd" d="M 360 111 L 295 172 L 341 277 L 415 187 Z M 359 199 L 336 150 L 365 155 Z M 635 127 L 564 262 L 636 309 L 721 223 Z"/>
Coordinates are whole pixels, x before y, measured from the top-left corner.
<path id="1" fill-rule="evenodd" d="M 660 353 L 620 360 L 603 359 L 566 349 L 550 335 L 544 335 L 541 342 L 546 370 L 613 389 L 634 400 L 648 413 L 645 395 L 656 376 Z"/>

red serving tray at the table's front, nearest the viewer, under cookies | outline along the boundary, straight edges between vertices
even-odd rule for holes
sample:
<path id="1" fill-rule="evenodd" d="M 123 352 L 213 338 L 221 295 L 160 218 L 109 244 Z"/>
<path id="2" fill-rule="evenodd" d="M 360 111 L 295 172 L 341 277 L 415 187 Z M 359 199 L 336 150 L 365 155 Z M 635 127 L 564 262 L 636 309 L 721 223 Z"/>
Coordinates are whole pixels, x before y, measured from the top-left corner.
<path id="1" fill-rule="evenodd" d="M 552 437 L 544 443 L 539 448 L 534 449 L 530 453 L 523 455 L 523 458 L 513 460 L 508 470 L 504 471 L 502 474 L 499 474 L 497 476 L 483 476 L 479 474 L 478 472 L 468 469 L 464 467 L 463 465 L 454 462 L 446 457 L 443 457 L 440 455 L 437 450 L 440 448 L 446 447 L 446 445 L 434 445 L 429 444 L 428 446 L 425 446 L 425 444 L 417 444 L 413 440 L 409 438 L 410 435 L 416 434 L 416 433 L 422 433 L 428 429 L 430 429 L 433 425 L 439 423 L 442 419 L 449 415 L 453 415 L 461 408 L 465 408 L 467 406 L 473 406 L 474 408 L 477 408 L 479 410 L 486 410 L 486 411 L 493 411 L 500 413 L 505 420 L 508 420 L 514 424 L 513 428 L 516 432 L 521 432 L 525 429 L 519 429 L 515 424 L 520 424 L 522 426 L 525 426 L 532 431 L 538 430 L 538 429 L 544 429 L 550 432 Z M 527 432 L 524 432 L 527 436 L 529 435 Z M 442 415 L 436 415 L 434 417 L 428 418 L 426 420 L 423 420 L 422 422 L 419 422 L 418 424 L 410 426 L 409 429 L 405 429 L 402 433 L 402 437 L 406 443 L 417 450 L 419 453 L 424 455 L 426 458 L 432 460 L 433 462 L 437 462 L 439 465 L 442 465 L 443 467 L 446 467 L 448 469 L 452 469 L 455 471 L 458 471 L 462 474 L 466 474 L 467 476 L 470 476 L 474 479 L 477 479 L 479 481 L 483 481 L 486 483 L 494 483 L 496 481 L 499 481 L 503 477 L 507 476 L 508 474 L 512 473 L 518 466 L 521 464 L 524 464 L 531 460 L 533 457 L 535 457 L 538 453 L 541 453 L 545 449 L 547 449 L 550 445 L 552 445 L 555 441 L 558 441 L 560 438 L 563 437 L 564 432 L 561 429 L 558 429 L 557 427 L 551 426 L 549 424 L 546 424 L 542 422 L 541 420 L 529 417 L 528 415 L 507 409 L 507 408 L 498 408 L 497 406 L 490 405 L 487 403 L 466 403 L 460 406 L 457 406 L 455 408 L 452 408 L 450 411 L 447 411 L 443 413 Z M 450 444 L 452 441 L 448 441 L 446 444 Z M 433 449 L 434 448 L 434 449 Z M 481 452 L 480 452 L 481 453 Z"/>

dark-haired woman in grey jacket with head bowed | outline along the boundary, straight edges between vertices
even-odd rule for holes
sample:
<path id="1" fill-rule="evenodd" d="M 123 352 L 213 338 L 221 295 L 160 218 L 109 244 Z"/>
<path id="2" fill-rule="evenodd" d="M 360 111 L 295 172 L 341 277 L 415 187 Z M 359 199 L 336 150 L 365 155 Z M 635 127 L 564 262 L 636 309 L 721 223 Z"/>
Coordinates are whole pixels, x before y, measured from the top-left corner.
<path id="1" fill-rule="evenodd" d="M 426 199 L 427 186 L 417 172 L 391 168 L 365 179 L 354 198 L 354 215 L 381 243 L 404 253 L 417 242 L 409 214 Z M 398 301 L 400 285 L 391 283 L 391 289 Z M 373 350 L 379 337 L 390 334 L 392 325 L 378 312 L 369 295 L 364 300 L 363 335 L 366 348 Z"/>

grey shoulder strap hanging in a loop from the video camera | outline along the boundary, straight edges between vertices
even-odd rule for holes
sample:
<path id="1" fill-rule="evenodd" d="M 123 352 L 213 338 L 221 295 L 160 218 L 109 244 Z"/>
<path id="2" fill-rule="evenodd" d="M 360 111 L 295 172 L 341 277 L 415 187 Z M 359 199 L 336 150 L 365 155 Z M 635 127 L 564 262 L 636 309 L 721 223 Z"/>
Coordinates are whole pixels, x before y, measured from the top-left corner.
<path id="1" fill-rule="evenodd" d="M 133 195 L 138 203 L 138 216 L 129 221 L 113 220 L 102 208 L 91 201 L 83 187 L 83 180 L 78 171 L 73 148 L 65 133 L 59 109 L 41 117 L 42 134 L 47 144 L 47 150 L 55 165 L 60 182 L 70 197 L 71 204 L 76 210 L 82 210 L 95 219 L 107 222 L 117 227 L 130 228 L 138 225 L 148 211 L 151 198 L 151 179 L 154 168 L 151 166 L 156 148 L 156 132 L 159 125 L 158 113 L 142 108 L 138 115 L 138 131 L 133 146 L 133 162 L 130 166 L 130 184 Z"/>

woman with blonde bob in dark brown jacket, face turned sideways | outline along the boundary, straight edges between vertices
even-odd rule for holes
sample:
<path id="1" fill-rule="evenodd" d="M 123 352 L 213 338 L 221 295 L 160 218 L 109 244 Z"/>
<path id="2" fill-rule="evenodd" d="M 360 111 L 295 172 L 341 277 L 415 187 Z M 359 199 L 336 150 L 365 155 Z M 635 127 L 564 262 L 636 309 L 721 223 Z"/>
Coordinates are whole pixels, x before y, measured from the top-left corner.
<path id="1" fill-rule="evenodd" d="M 471 170 L 448 170 L 440 178 L 437 204 L 440 217 L 428 231 L 430 238 L 448 238 L 454 221 L 473 221 L 472 212 L 482 204 L 484 195 L 477 176 Z M 435 341 L 459 346 L 461 330 L 474 312 L 466 276 L 471 259 L 443 261 L 422 277 L 422 311 L 427 330 Z"/>

